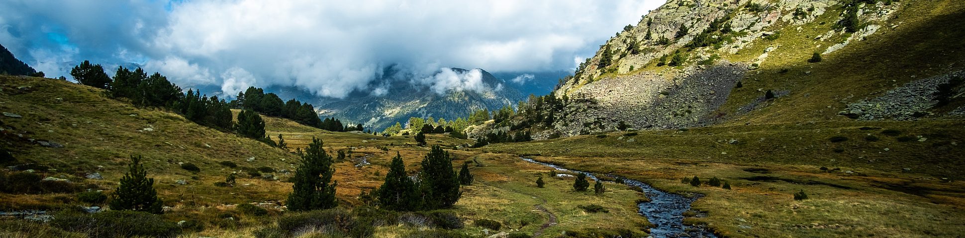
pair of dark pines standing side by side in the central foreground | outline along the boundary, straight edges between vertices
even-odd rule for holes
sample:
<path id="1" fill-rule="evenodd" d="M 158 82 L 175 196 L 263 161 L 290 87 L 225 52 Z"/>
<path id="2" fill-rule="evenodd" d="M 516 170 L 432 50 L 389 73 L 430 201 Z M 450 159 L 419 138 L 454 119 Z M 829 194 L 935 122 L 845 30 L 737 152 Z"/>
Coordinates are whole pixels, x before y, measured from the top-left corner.
<path id="1" fill-rule="evenodd" d="M 412 179 L 405 172 L 401 155 L 392 159 L 385 183 L 373 194 L 378 206 L 396 211 L 432 210 L 452 207 L 462 196 L 460 185 L 472 183 L 468 166 L 457 174 L 449 152 L 435 145 L 422 161 L 422 172 Z"/>

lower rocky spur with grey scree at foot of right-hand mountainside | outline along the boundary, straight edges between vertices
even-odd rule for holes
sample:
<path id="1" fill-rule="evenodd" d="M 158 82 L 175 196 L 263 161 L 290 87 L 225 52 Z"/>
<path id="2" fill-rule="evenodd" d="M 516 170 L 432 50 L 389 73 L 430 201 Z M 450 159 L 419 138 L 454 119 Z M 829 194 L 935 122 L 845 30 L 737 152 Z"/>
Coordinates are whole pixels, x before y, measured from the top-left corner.
<path id="1" fill-rule="evenodd" d="M 677 128 L 706 125 L 744 76 L 744 64 L 690 66 L 677 75 L 641 73 L 601 79 L 573 93 L 560 121 L 543 139 L 616 129 Z"/>

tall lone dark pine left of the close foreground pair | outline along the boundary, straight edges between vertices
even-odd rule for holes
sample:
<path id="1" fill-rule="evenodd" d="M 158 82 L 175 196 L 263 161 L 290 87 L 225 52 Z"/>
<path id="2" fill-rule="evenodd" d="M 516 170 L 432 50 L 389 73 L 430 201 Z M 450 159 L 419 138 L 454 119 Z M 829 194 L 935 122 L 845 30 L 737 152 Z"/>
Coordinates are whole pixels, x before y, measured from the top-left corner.
<path id="1" fill-rule="evenodd" d="M 332 182 L 332 156 L 325 153 L 320 139 L 312 138 L 312 144 L 305 148 L 301 155 L 302 164 L 298 166 L 291 179 L 291 194 L 288 199 L 289 210 L 308 211 L 329 209 L 338 205 L 335 198 L 335 186 Z"/>

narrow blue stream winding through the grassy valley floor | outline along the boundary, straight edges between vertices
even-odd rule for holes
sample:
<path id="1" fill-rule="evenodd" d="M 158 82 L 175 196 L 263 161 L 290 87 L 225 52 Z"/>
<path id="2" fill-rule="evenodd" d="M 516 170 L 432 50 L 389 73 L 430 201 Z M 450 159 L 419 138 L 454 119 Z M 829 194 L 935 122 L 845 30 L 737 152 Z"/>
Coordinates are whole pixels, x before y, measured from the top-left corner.
<path id="1" fill-rule="evenodd" d="M 526 162 L 552 167 L 557 171 L 562 172 L 581 172 L 567 170 L 557 165 L 538 162 L 529 158 L 521 158 Z M 583 172 L 587 174 L 587 177 L 596 180 L 596 176 L 590 172 Z M 615 176 L 612 174 L 607 174 L 615 178 L 620 176 Z M 697 198 L 685 198 L 683 196 L 668 194 L 650 187 L 648 184 L 627 179 L 625 177 L 620 177 L 623 179 L 623 184 L 628 186 L 635 186 L 643 189 L 644 194 L 647 198 L 650 198 L 649 202 L 641 202 L 637 204 L 640 207 L 640 214 L 647 217 L 647 220 L 654 227 L 650 228 L 650 236 L 652 237 L 716 237 L 713 233 L 710 233 L 703 227 L 697 227 L 692 225 L 683 225 L 683 212 L 690 210 L 690 203 L 697 200 Z"/>

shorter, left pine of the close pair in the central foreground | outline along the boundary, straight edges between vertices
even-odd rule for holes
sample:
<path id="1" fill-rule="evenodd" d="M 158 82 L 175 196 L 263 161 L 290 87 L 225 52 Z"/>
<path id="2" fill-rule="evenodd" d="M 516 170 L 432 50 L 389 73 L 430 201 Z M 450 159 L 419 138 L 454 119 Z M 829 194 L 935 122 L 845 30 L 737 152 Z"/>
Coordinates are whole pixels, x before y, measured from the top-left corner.
<path id="1" fill-rule="evenodd" d="M 395 211 L 415 211 L 421 208 L 422 198 L 418 185 L 405 174 L 402 156 L 396 152 L 392 158 L 389 172 L 385 174 L 385 183 L 378 188 L 379 207 Z"/>

